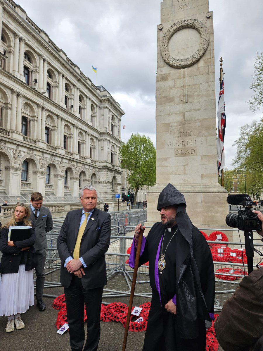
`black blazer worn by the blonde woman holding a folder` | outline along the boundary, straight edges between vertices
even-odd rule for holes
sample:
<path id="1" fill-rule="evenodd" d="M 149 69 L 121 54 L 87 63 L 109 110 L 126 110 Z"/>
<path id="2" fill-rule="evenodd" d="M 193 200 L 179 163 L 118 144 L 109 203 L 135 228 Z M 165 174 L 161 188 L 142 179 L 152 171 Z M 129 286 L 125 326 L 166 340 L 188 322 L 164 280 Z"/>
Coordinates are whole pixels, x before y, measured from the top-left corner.
<path id="1" fill-rule="evenodd" d="M 16 246 L 8 246 L 8 232 L 9 229 L 1 229 L 0 237 L 0 251 L 3 253 L 0 263 L 0 273 L 17 273 L 21 261 L 21 255 L 24 255 L 25 270 L 30 271 L 35 267 L 34 263 L 34 243 L 35 243 L 35 227 L 34 224 L 31 230 L 29 239 L 16 241 Z M 22 247 L 30 246 L 29 250 L 21 251 Z"/>

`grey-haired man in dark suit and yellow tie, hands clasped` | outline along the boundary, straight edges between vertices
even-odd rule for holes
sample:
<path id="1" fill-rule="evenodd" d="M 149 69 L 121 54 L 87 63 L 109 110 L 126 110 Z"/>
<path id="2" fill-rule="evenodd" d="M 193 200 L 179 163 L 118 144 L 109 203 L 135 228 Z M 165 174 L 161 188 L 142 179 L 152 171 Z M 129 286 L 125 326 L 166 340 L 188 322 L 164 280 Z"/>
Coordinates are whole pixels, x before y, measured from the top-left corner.
<path id="1" fill-rule="evenodd" d="M 72 351 L 96 351 L 100 340 L 100 310 L 103 286 L 107 284 L 105 252 L 110 243 L 110 215 L 96 208 L 97 191 L 84 186 L 80 210 L 69 211 L 57 241 L 61 259 L 60 282 L 64 286 L 67 322 Z"/>

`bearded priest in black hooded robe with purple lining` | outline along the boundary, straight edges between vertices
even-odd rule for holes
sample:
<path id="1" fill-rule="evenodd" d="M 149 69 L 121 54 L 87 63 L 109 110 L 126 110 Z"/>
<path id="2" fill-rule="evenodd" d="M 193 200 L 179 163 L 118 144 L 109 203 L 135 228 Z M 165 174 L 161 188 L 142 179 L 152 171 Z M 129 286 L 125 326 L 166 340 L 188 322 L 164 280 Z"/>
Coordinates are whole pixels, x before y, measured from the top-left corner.
<path id="1" fill-rule="evenodd" d="M 207 241 L 191 223 L 186 201 L 173 185 L 159 195 L 155 223 L 142 238 L 139 265 L 149 261 L 153 291 L 143 351 L 205 351 L 205 329 L 214 319 L 215 276 Z M 129 265 L 134 268 L 141 224 L 135 228 Z"/>

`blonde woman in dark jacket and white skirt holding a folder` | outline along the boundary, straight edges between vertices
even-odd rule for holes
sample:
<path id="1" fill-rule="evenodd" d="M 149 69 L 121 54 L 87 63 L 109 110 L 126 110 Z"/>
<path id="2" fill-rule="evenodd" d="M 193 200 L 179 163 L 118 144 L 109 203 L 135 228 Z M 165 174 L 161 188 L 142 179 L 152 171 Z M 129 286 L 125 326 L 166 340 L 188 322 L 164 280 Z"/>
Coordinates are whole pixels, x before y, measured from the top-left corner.
<path id="1" fill-rule="evenodd" d="M 28 220 L 30 210 L 23 203 L 16 204 L 12 218 L 1 226 L 0 251 L 0 316 L 7 316 L 6 332 L 25 327 L 20 313 L 25 313 L 34 305 L 33 262 L 35 228 Z M 31 227 L 30 237 L 12 241 L 8 238 L 9 228 L 13 226 Z"/>

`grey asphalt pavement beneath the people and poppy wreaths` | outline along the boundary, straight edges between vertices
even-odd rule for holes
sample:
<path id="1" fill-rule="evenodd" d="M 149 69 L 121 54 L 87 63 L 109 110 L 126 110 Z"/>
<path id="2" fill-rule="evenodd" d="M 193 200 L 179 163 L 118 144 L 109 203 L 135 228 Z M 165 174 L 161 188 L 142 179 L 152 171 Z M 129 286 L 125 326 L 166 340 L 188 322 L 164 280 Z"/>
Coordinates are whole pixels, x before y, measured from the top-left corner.
<path id="1" fill-rule="evenodd" d="M 48 288 L 44 294 L 59 296 L 63 294 L 62 287 Z M 47 308 L 39 311 L 36 306 L 21 315 L 25 328 L 11 333 L 4 331 L 7 317 L 0 317 L 0 351 L 70 351 L 69 332 L 63 335 L 56 333 L 56 318 L 59 310 L 52 308 L 53 298 L 43 297 Z M 121 302 L 128 305 L 128 297 L 105 298 L 104 302 Z M 133 305 L 139 306 L 148 302 L 142 297 L 135 297 Z M 145 332 L 129 332 L 126 344 L 127 351 L 142 350 Z M 124 327 L 120 322 L 101 322 L 101 338 L 98 351 L 121 351 L 124 337 Z M 153 350 L 155 351 L 155 350 Z M 219 347 L 218 351 L 223 351 Z"/>

